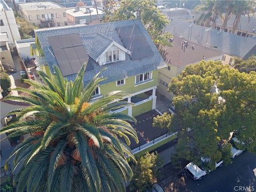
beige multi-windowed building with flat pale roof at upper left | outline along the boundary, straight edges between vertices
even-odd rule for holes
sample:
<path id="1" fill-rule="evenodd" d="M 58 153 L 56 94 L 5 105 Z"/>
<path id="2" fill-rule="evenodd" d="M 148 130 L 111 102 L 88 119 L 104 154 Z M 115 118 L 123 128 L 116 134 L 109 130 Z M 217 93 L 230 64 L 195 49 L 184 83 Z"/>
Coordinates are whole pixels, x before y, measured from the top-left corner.
<path id="1" fill-rule="evenodd" d="M 39 27 L 68 25 L 66 8 L 53 2 L 20 3 L 19 11 L 24 19 Z"/>

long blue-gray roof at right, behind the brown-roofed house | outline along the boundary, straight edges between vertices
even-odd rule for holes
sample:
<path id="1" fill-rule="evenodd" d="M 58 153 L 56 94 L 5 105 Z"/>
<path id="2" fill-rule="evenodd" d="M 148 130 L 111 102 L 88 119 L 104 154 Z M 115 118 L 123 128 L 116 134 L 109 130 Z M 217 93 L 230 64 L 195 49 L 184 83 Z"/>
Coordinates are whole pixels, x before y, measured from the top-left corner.
<path id="1" fill-rule="evenodd" d="M 179 19 L 173 19 L 166 26 L 165 31 L 183 37 L 183 39 L 190 42 L 243 59 L 256 54 L 256 39 L 193 25 L 193 23 L 180 21 Z"/>

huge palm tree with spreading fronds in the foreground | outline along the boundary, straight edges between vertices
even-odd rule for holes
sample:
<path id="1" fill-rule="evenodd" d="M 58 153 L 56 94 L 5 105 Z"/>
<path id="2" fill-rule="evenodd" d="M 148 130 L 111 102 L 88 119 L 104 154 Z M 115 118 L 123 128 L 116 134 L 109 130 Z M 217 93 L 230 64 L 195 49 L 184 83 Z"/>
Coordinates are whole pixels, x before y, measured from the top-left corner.
<path id="1" fill-rule="evenodd" d="M 14 170 L 20 167 L 14 179 L 17 191 L 125 191 L 124 180 L 133 175 L 127 158 L 134 159 L 127 146 L 128 135 L 138 142 L 127 121 L 135 119 L 109 111 L 130 103 L 117 101 L 124 97 L 120 92 L 91 102 L 94 90 L 105 78 L 97 74 L 84 87 L 85 66 L 74 82 L 63 78 L 59 68 L 54 70 L 52 76 L 39 72 L 45 85 L 25 80 L 34 89 L 17 90 L 29 97 L 7 98 L 30 105 L 11 111 L 17 115 L 16 121 L 1 130 L 8 138 L 31 134 L 10 156 Z"/>

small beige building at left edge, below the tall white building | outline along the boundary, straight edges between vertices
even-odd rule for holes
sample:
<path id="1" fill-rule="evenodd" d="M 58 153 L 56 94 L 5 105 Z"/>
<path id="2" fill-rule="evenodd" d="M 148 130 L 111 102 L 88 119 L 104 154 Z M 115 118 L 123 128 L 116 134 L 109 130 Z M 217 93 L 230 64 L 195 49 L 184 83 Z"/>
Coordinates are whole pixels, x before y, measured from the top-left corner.
<path id="1" fill-rule="evenodd" d="M 1 58 L 2 65 L 4 67 L 14 69 L 15 66 L 12 60 L 12 54 L 11 54 L 8 42 L 9 42 L 9 39 L 7 37 L 7 34 L 1 33 L 0 34 L 0 58 Z"/>

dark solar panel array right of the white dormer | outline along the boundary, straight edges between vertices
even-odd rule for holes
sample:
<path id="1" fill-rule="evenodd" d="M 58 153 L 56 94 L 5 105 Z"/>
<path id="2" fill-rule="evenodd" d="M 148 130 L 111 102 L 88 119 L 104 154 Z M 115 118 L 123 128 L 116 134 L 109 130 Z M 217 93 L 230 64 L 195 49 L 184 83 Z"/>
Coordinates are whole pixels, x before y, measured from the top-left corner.
<path id="1" fill-rule="evenodd" d="M 154 55 L 138 25 L 123 26 L 116 28 L 124 46 L 131 51 L 132 60 L 142 59 Z"/>

